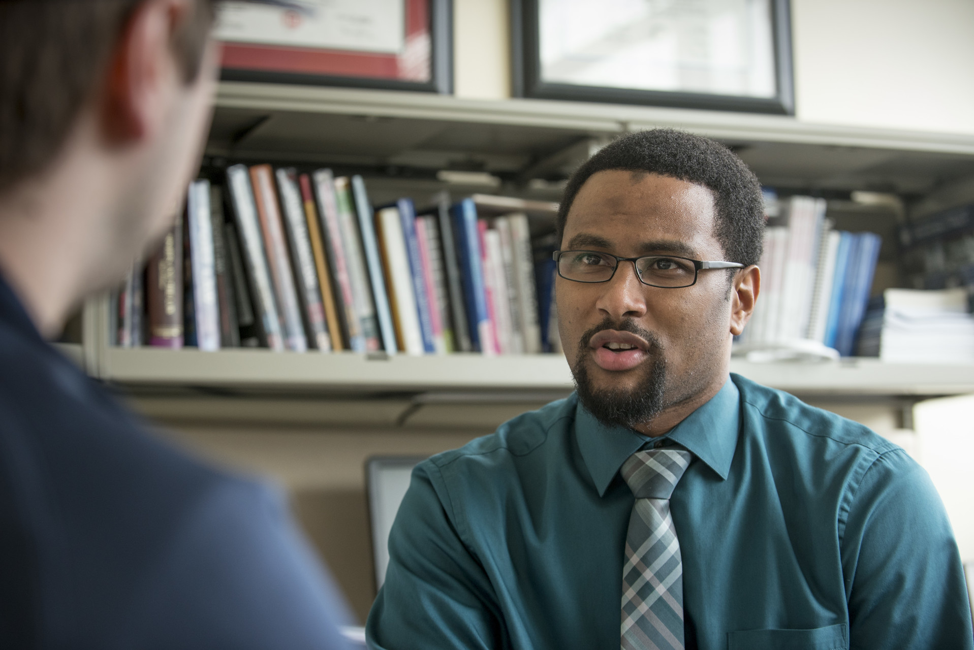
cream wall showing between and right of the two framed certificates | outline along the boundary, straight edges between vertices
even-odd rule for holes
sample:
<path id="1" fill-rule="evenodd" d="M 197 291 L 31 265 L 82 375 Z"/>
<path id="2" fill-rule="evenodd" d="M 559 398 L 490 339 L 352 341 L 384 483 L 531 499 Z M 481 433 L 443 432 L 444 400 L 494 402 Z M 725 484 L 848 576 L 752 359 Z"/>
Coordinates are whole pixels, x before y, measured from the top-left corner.
<path id="1" fill-rule="evenodd" d="M 460 97 L 509 96 L 507 0 L 454 0 Z M 974 133 L 974 1 L 792 0 L 799 120 Z"/>

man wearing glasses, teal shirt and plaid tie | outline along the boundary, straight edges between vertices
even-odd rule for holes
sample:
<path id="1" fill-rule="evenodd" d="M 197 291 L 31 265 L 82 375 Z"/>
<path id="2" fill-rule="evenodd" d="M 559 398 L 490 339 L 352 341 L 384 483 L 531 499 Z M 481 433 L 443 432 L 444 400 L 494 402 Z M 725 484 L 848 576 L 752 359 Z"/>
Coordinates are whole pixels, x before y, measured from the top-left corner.
<path id="1" fill-rule="evenodd" d="M 570 179 L 556 300 L 577 391 L 417 467 L 375 648 L 967 648 L 943 506 L 864 426 L 729 373 L 757 179 L 652 130 Z"/>

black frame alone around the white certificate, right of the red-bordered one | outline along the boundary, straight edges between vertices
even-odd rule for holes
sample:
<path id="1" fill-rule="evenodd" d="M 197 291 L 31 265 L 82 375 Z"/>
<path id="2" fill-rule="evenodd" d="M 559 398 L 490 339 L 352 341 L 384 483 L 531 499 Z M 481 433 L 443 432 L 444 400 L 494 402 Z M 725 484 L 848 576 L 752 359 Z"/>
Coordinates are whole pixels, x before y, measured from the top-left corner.
<path id="1" fill-rule="evenodd" d="M 770 2 L 777 86 L 774 97 L 618 89 L 545 82 L 541 76 L 539 0 L 510 0 L 512 94 L 515 97 L 538 99 L 794 115 L 791 7 L 789 0 L 770 0 Z"/>

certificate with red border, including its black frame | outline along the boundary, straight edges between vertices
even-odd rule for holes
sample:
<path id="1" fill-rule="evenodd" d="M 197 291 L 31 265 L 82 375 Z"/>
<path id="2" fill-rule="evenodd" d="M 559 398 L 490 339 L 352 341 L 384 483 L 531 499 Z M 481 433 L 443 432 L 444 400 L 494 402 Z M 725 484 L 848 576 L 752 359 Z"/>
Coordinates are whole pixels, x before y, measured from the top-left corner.
<path id="1" fill-rule="evenodd" d="M 452 92 L 450 0 L 222 2 L 221 78 Z"/>

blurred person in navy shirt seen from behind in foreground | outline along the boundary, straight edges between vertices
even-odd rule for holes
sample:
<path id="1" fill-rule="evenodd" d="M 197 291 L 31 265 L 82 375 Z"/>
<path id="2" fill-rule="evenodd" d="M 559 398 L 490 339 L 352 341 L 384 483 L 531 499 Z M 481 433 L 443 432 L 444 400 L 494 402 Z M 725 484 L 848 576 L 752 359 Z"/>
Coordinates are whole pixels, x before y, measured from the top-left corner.
<path id="1" fill-rule="evenodd" d="M 190 458 L 46 340 L 167 230 L 209 0 L 0 0 L 0 647 L 343 648 L 281 496 Z"/>

